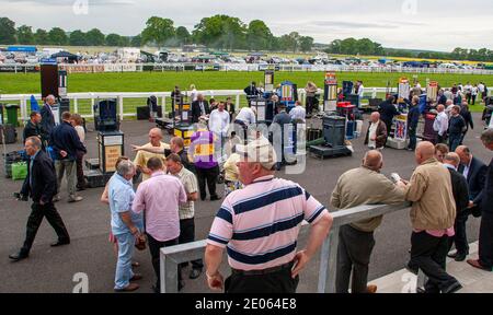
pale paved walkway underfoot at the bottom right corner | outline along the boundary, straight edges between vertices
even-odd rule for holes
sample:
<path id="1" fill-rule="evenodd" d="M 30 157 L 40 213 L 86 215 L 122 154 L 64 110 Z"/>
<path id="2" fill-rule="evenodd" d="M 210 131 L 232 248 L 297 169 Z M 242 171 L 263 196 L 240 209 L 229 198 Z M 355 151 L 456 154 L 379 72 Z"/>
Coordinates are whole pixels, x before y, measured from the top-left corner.
<path id="1" fill-rule="evenodd" d="M 470 245 L 468 259 L 478 257 L 478 242 Z M 463 289 L 457 293 L 493 293 L 493 272 L 475 269 L 466 261 L 447 258 L 447 271 L 459 280 Z M 417 277 L 402 269 L 371 281 L 378 293 L 415 293 Z"/>

